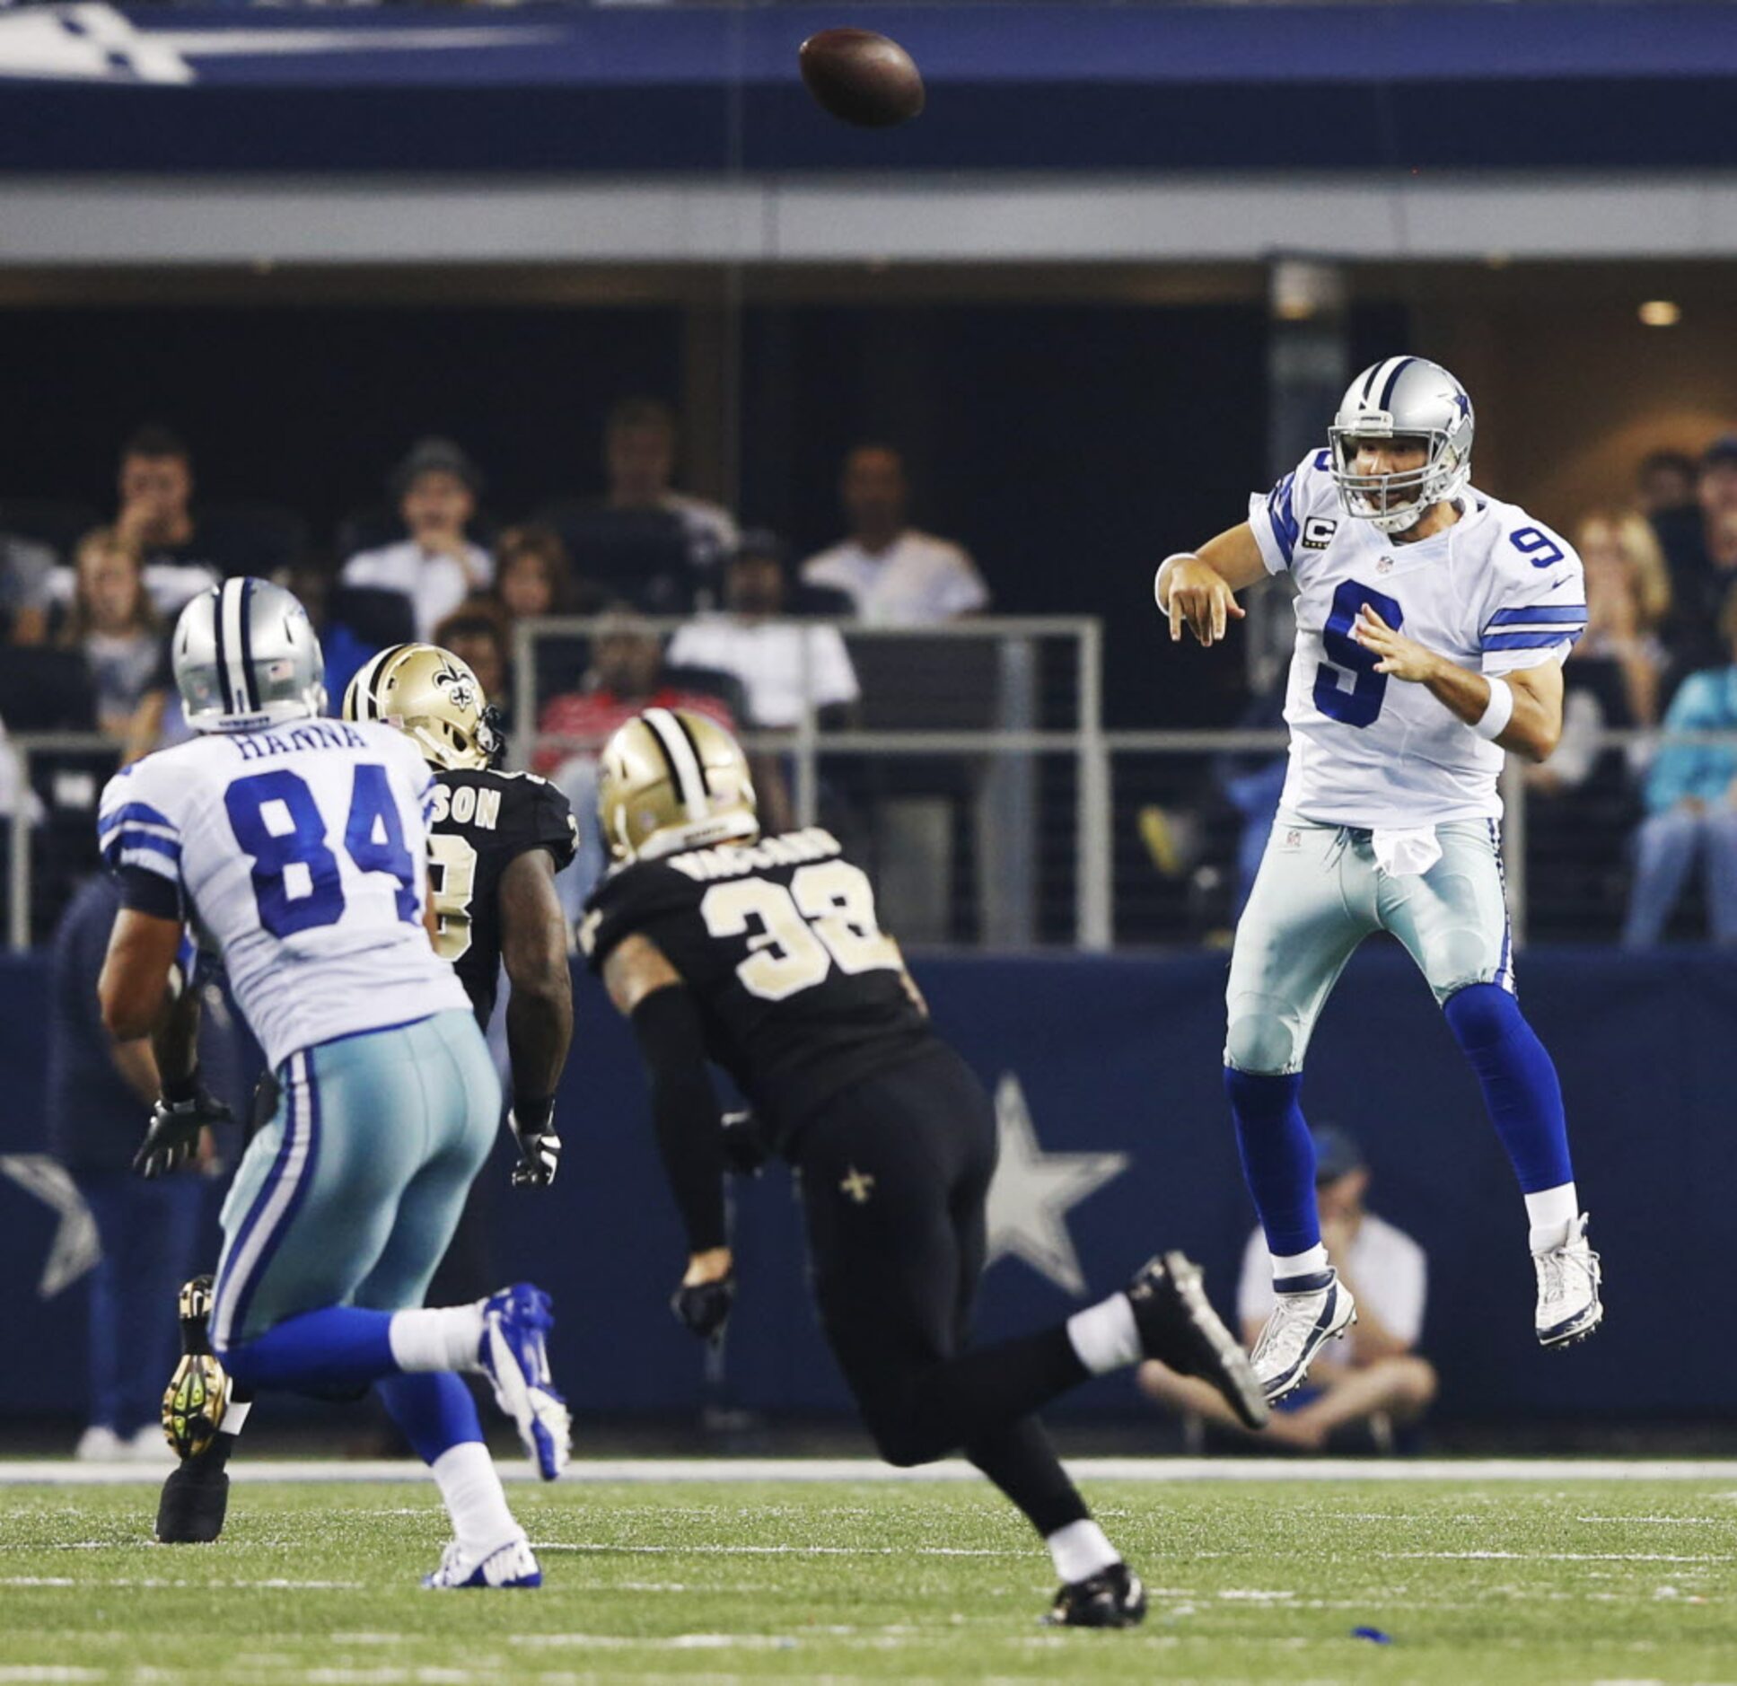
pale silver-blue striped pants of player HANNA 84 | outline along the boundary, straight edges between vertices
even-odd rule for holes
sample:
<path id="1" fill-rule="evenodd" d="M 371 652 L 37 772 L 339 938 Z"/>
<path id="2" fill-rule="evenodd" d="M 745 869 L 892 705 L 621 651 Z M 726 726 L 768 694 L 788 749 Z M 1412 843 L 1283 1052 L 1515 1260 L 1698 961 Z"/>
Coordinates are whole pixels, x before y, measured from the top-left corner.
<path id="1" fill-rule="evenodd" d="M 422 1304 L 500 1118 L 460 1011 L 321 1044 L 280 1082 L 224 1203 L 219 1353 L 323 1306 Z"/>

